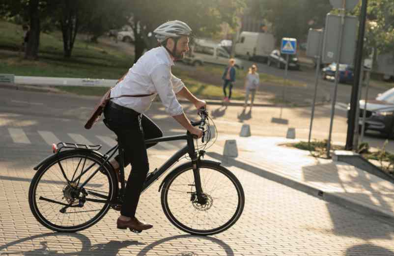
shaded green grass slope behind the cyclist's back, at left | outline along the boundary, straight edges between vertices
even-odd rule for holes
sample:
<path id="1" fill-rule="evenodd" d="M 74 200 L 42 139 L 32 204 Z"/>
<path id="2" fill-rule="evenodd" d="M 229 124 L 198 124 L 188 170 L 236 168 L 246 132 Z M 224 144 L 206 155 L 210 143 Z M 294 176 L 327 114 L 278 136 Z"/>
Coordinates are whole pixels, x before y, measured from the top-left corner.
<path id="1" fill-rule="evenodd" d="M 63 42 L 59 31 L 40 35 L 38 60 L 26 60 L 18 55 L 22 41 L 21 26 L 0 21 L 0 73 L 23 76 L 118 79 L 133 63 L 109 46 L 76 39 L 72 57 L 63 57 Z"/>

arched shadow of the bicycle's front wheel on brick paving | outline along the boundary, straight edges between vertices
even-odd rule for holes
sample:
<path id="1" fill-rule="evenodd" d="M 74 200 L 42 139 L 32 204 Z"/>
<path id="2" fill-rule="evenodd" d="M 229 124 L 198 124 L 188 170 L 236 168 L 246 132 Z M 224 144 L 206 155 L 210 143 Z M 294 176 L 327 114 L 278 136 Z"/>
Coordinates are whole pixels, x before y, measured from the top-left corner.
<path id="1" fill-rule="evenodd" d="M 153 242 L 147 246 L 145 246 L 140 253 L 138 253 L 137 256 L 145 256 L 147 254 L 147 252 L 149 252 L 150 250 L 152 250 L 155 246 L 158 246 L 162 243 L 168 242 L 168 241 L 172 241 L 172 240 L 176 240 L 176 239 L 187 239 L 187 240 L 191 240 L 191 239 L 201 239 L 201 240 L 208 240 L 212 243 L 216 243 L 218 245 L 220 245 L 223 248 L 223 251 L 226 253 L 226 256 L 234 256 L 234 252 L 231 249 L 230 246 L 228 246 L 225 242 L 223 242 L 222 240 L 212 237 L 212 236 L 197 236 L 197 235 L 175 235 L 175 236 L 170 236 L 167 238 L 163 238 L 161 240 L 158 240 L 156 242 Z M 188 241 L 189 242 L 189 241 Z M 179 248 L 180 250 L 182 250 L 181 248 Z M 197 254 L 195 252 L 191 252 L 191 251 L 180 251 L 177 254 L 175 254 L 174 256 L 197 256 L 200 254 Z"/>

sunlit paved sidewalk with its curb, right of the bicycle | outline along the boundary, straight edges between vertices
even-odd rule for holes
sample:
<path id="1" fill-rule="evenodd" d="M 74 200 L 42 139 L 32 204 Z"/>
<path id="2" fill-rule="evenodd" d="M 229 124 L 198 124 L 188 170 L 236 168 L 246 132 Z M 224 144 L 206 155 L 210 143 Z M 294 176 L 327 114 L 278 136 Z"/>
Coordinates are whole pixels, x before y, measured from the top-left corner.
<path id="1" fill-rule="evenodd" d="M 347 163 L 314 158 L 309 151 L 281 145 L 297 140 L 220 136 L 218 144 L 234 139 L 239 157 L 224 159 L 229 165 L 263 172 L 281 184 L 394 224 L 393 183 Z M 216 153 L 210 156 L 221 158 Z"/>

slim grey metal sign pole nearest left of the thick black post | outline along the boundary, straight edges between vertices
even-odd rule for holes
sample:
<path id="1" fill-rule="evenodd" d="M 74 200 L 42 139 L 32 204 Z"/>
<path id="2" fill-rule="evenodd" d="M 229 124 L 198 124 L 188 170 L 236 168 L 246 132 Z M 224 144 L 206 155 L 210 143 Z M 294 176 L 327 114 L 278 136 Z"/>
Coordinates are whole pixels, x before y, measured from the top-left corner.
<path id="1" fill-rule="evenodd" d="M 343 0 L 343 8 L 341 9 L 341 19 L 340 19 L 340 29 L 339 29 L 339 38 L 338 38 L 338 55 L 337 55 L 337 69 L 335 70 L 335 86 L 333 93 L 333 102 L 331 105 L 331 118 L 330 118 L 330 131 L 328 133 L 328 141 L 327 141 L 327 158 L 330 158 L 330 150 L 331 150 L 331 134 L 333 132 L 333 122 L 334 122 L 334 114 L 335 114 L 335 104 L 337 102 L 337 90 L 338 90 L 338 80 L 339 80 L 339 61 L 340 55 L 342 51 L 342 34 L 343 27 L 345 24 L 345 4 L 346 0 Z"/>

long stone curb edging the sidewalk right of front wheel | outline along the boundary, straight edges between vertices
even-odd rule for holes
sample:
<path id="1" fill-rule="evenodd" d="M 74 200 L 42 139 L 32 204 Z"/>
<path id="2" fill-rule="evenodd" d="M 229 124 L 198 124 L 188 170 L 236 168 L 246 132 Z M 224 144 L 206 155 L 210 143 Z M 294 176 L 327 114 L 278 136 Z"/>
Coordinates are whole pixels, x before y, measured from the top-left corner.
<path id="1" fill-rule="evenodd" d="M 274 182 L 278 182 L 282 185 L 296 189 L 298 191 L 307 193 L 308 195 L 311 195 L 313 197 L 336 203 L 342 207 L 359 213 L 363 213 L 365 215 L 372 215 L 376 219 L 394 226 L 394 214 L 392 212 L 388 212 L 384 209 L 379 209 L 378 207 L 373 207 L 355 199 L 350 199 L 338 195 L 337 193 L 327 192 L 324 188 L 317 188 L 311 186 L 309 183 L 293 179 L 289 176 L 258 168 L 256 167 L 258 166 L 257 163 L 253 163 L 252 161 L 244 159 L 242 157 L 237 157 L 237 159 L 239 160 L 236 160 L 232 158 L 225 158 L 221 154 L 215 152 L 207 152 L 206 154 L 212 158 L 223 161 L 223 164 L 229 164 L 242 168 L 246 171 L 251 171 L 254 174 L 257 174 Z"/>

